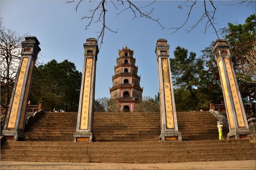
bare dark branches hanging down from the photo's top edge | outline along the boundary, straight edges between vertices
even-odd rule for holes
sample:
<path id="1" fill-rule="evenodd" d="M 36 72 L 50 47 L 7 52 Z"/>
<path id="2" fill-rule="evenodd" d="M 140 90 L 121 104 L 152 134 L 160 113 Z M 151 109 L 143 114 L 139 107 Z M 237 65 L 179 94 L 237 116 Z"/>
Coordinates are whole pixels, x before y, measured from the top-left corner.
<path id="1" fill-rule="evenodd" d="M 66 3 L 71 3 L 74 1 L 75 0 L 68 0 Z M 78 7 L 81 4 L 81 2 L 82 2 L 82 0 L 79 0 L 78 3 L 76 4 L 76 6 L 75 6 L 76 11 L 78 11 Z M 91 1 L 89 1 L 89 2 L 91 2 Z M 161 29 L 173 30 L 169 34 L 174 34 L 178 30 L 183 28 L 187 24 L 187 22 L 190 20 L 192 11 L 199 10 L 199 8 L 203 8 L 203 12 L 198 17 L 198 20 L 195 21 L 194 25 L 189 26 L 189 28 L 186 29 L 186 31 L 190 32 L 196 26 L 198 26 L 201 22 L 205 21 L 206 23 L 204 26 L 204 30 L 202 32 L 206 33 L 207 29 L 209 27 L 212 27 L 215 30 L 217 38 L 219 38 L 218 31 L 216 30 L 216 27 L 215 27 L 215 25 L 217 24 L 215 22 L 216 21 L 215 14 L 217 12 L 217 8 L 220 5 L 237 6 L 237 8 L 243 4 L 249 6 L 251 4 L 252 0 L 251 1 L 247 1 L 247 0 L 224 1 L 225 3 L 222 1 L 214 1 L 214 0 L 209 0 L 209 1 L 187 0 L 187 1 L 184 1 L 181 5 L 178 6 L 178 8 L 180 8 L 180 9 L 186 8 L 186 10 L 188 11 L 186 20 L 183 22 L 183 24 L 181 26 L 170 27 L 170 28 L 164 27 L 162 25 L 162 23 L 160 23 L 159 19 L 155 19 L 154 16 L 152 16 L 154 8 L 151 8 L 151 7 L 155 1 L 150 1 L 150 2 L 145 1 L 145 3 L 147 3 L 147 4 L 142 7 L 137 6 L 136 1 L 130 1 L 130 0 L 117 0 L 117 1 L 102 0 L 102 1 L 96 1 L 96 2 L 97 2 L 97 5 L 93 9 L 89 9 L 90 14 L 88 16 L 83 16 L 81 19 L 88 19 L 88 25 L 86 26 L 85 29 L 88 29 L 88 27 L 92 23 L 99 22 L 102 24 L 102 29 L 99 32 L 97 32 L 97 33 L 99 33 L 99 36 L 97 36 L 97 41 L 99 42 L 99 40 L 100 40 L 100 45 L 102 45 L 106 29 L 113 33 L 117 33 L 117 30 L 118 30 L 118 29 L 116 29 L 116 30 L 111 29 L 106 23 L 105 18 L 106 18 L 106 12 L 108 12 L 107 7 L 109 7 L 109 6 L 107 6 L 108 2 L 110 5 L 113 5 L 114 9 L 117 11 L 116 17 L 119 16 L 119 14 L 123 13 L 124 11 L 130 11 L 132 13 L 132 15 L 134 16 L 133 20 L 137 16 L 140 16 L 140 18 L 146 18 L 146 19 L 153 20 L 161 27 Z M 146 10 L 146 12 L 143 12 L 144 9 Z"/>

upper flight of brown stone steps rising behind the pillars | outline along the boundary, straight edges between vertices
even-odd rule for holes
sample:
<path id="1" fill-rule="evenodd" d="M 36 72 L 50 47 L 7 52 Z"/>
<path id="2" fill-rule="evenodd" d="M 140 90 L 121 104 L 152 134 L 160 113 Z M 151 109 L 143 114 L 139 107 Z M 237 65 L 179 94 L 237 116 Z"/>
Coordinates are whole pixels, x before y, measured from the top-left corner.
<path id="1" fill-rule="evenodd" d="M 77 113 L 45 112 L 25 130 L 26 141 L 72 142 Z M 208 112 L 177 112 L 183 141 L 217 140 L 217 119 Z M 95 142 L 158 141 L 160 113 L 94 113 Z M 228 129 L 223 128 L 224 138 Z"/>

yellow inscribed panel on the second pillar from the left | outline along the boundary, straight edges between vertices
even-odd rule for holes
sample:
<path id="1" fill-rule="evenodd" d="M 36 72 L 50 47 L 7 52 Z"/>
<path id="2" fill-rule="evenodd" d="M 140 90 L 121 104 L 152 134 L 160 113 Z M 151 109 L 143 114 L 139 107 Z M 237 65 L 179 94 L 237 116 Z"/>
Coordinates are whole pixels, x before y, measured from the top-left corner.
<path id="1" fill-rule="evenodd" d="M 86 58 L 85 77 L 83 81 L 83 97 L 80 118 L 80 129 L 88 129 L 90 89 L 92 82 L 93 58 Z"/>

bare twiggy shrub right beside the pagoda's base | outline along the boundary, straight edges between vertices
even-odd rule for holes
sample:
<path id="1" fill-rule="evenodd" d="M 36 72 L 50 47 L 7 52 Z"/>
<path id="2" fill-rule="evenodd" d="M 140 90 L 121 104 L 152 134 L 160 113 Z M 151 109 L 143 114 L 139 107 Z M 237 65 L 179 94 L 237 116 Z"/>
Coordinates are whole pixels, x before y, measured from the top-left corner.
<path id="1" fill-rule="evenodd" d="M 135 112 L 160 112 L 160 104 L 150 96 L 143 96 L 134 106 Z"/>

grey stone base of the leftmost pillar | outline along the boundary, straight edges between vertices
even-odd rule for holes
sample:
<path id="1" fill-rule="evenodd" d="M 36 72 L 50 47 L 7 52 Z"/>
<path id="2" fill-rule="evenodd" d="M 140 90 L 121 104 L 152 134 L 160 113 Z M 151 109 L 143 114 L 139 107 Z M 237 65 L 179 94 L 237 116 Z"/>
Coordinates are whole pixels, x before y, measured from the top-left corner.
<path id="1" fill-rule="evenodd" d="M 3 130 L 2 136 L 6 141 L 25 141 L 26 135 L 24 132 L 16 130 Z"/>

